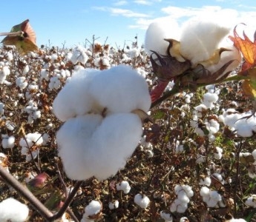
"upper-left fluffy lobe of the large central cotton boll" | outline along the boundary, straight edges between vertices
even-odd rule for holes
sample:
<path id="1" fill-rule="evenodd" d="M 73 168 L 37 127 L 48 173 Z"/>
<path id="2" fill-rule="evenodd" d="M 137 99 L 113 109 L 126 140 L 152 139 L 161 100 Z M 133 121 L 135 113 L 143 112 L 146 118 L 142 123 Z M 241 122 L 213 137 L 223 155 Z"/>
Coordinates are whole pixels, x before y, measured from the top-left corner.
<path id="1" fill-rule="evenodd" d="M 92 109 L 88 87 L 99 70 L 85 69 L 74 73 L 53 101 L 53 112 L 60 121 L 85 115 Z"/>

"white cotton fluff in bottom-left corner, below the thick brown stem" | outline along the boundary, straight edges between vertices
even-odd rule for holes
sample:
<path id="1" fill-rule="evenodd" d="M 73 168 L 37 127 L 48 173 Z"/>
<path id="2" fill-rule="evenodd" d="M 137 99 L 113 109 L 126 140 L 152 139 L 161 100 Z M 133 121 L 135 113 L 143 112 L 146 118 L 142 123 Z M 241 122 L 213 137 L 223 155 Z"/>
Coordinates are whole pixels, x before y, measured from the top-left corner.
<path id="1" fill-rule="evenodd" d="M 29 209 L 27 205 L 16 201 L 14 198 L 7 198 L 0 203 L 1 222 L 22 222 L 27 221 Z"/>

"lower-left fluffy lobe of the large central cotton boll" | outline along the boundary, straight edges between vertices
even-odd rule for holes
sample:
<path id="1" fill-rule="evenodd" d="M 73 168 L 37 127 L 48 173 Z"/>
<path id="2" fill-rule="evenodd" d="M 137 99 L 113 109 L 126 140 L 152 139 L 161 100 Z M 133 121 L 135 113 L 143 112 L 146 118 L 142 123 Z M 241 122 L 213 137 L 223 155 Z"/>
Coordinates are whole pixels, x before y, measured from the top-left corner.
<path id="1" fill-rule="evenodd" d="M 102 116 L 95 114 L 70 118 L 56 133 L 59 156 L 68 178 L 85 180 L 93 176 L 92 164 L 97 158 L 95 155 L 94 159 L 88 160 L 86 152 L 94 148 L 90 138 L 101 122 Z"/>

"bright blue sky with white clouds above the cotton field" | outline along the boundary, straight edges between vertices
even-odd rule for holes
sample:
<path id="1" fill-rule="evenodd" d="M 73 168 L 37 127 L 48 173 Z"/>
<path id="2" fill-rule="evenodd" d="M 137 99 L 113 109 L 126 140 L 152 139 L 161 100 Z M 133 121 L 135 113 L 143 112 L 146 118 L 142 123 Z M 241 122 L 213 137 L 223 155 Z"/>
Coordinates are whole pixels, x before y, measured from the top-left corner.
<path id="1" fill-rule="evenodd" d="M 178 23 L 191 16 L 211 13 L 223 22 L 256 21 L 255 0 L 8 0 L 1 1 L 0 32 L 25 19 L 36 31 L 37 44 L 74 47 L 92 40 L 123 47 L 138 36 L 141 45 L 145 30 L 154 19 L 170 16 Z M 221 16 L 219 16 L 221 14 Z M 255 30 L 256 30 L 256 24 Z M 171 27 L 170 27 L 171 28 Z M 107 39 L 108 38 L 108 39 Z M 1 38 L 0 38 L 1 39 Z"/>

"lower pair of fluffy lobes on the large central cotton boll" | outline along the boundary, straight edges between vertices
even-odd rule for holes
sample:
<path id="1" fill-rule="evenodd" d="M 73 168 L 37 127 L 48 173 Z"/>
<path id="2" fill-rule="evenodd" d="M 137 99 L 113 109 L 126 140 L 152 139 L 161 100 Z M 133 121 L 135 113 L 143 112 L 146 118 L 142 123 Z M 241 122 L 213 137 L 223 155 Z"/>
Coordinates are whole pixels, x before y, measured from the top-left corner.
<path id="1" fill-rule="evenodd" d="M 85 180 L 94 175 L 104 180 L 125 166 L 141 135 L 140 118 L 133 113 L 106 118 L 88 114 L 66 121 L 57 132 L 56 141 L 70 179 Z"/>

